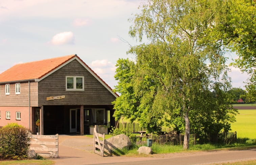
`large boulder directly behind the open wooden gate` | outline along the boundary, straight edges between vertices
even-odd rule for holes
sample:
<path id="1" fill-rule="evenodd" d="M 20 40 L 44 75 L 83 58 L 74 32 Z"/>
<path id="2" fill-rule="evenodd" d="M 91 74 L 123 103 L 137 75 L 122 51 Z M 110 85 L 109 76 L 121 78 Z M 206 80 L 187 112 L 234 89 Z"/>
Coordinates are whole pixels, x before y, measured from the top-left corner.
<path id="1" fill-rule="evenodd" d="M 114 149 L 123 149 L 125 147 L 130 147 L 132 145 L 129 137 L 127 135 L 121 134 L 113 136 L 105 140 L 105 148 L 111 154 Z"/>

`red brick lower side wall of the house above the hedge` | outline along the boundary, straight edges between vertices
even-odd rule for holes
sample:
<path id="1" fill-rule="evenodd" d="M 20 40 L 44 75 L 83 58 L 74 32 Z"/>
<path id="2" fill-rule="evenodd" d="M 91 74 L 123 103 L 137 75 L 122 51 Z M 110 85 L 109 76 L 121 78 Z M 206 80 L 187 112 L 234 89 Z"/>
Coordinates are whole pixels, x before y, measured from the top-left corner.
<path id="1" fill-rule="evenodd" d="M 0 126 L 5 126 L 8 123 L 18 123 L 19 125 L 22 125 L 26 128 L 29 127 L 28 125 L 28 107 L 0 107 L 0 111 L 1 111 L 1 119 L 0 119 Z M 6 111 L 10 111 L 10 119 L 6 119 Z M 16 120 L 16 112 L 21 112 L 21 119 L 20 120 Z M 32 116 L 31 114 L 31 108 L 30 108 L 30 116 Z M 30 129 L 31 127 L 31 120 L 30 120 Z"/>

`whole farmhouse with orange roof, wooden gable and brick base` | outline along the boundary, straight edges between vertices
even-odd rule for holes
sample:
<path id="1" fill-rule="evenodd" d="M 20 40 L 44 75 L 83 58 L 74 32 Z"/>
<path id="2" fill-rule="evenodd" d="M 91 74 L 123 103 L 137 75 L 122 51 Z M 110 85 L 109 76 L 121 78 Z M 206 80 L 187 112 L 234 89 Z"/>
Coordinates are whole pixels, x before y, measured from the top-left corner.
<path id="1" fill-rule="evenodd" d="M 117 97 L 76 54 L 21 63 L 0 74 L 0 126 L 84 134 L 90 125 L 115 126 L 111 102 Z"/>

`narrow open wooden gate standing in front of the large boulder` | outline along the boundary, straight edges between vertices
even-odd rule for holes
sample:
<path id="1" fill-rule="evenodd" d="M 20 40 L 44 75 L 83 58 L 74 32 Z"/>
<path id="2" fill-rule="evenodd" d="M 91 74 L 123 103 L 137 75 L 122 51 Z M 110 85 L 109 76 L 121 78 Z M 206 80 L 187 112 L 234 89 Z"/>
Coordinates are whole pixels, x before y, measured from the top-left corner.
<path id="1" fill-rule="evenodd" d="M 97 133 L 97 130 L 99 129 L 99 127 L 96 125 L 94 127 L 94 131 L 93 131 L 93 150 L 94 153 L 100 155 L 101 157 L 104 157 L 104 140 L 105 140 L 105 134 L 99 134 Z M 100 140 L 99 138 L 102 138 L 102 140 Z"/>

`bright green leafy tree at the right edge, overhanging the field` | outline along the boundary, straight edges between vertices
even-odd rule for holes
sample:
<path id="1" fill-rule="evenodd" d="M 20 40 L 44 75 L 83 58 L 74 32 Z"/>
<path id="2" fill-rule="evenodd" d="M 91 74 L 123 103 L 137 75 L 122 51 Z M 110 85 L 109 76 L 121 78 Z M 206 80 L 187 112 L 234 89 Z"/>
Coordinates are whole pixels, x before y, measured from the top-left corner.
<path id="1" fill-rule="evenodd" d="M 222 5 L 217 10 L 219 14 L 213 28 L 209 30 L 209 40 L 236 52 L 238 59 L 232 64 L 250 75 L 245 85 L 247 101 L 256 102 L 256 1 L 227 0 L 219 1 L 219 4 Z"/>

